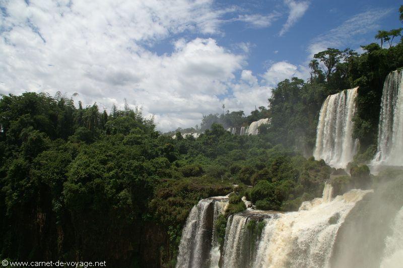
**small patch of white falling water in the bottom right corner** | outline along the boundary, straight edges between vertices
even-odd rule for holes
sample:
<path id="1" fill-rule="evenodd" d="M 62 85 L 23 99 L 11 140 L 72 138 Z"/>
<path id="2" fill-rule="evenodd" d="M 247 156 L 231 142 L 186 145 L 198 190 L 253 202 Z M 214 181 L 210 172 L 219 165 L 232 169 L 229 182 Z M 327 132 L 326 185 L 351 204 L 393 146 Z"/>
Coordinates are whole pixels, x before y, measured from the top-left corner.
<path id="1" fill-rule="evenodd" d="M 392 231 L 385 241 L 381 268 L 401 267 L 403 263 L 403 207 L 393 221 Z"/>

